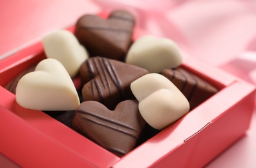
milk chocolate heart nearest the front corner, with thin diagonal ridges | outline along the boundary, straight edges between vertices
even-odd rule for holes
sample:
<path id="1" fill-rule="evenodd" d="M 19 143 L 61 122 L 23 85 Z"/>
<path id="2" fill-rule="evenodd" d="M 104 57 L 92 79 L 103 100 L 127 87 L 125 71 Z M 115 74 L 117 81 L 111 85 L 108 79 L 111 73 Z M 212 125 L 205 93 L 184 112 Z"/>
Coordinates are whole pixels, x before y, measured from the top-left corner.
<path id="1" fill-rule="evenodd" d="M 117 156 L 133 150 L 144 127 L 136 100 L 122 101 L 113 111 L 98 101 L 84 101 L 72 120 L 72 129 Z"/>

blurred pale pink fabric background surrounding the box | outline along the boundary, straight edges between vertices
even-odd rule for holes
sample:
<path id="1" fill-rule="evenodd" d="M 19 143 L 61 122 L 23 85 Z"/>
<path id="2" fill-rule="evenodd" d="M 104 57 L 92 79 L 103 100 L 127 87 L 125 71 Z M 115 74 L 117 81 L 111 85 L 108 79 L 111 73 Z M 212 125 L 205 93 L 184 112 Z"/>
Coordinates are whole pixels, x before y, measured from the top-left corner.
<path id="1" fill-rule="evenodd" d="M 187 56 L 256 84 L 253 0 L 1 1 L 0 60 L 82 14 L 114 8 L 130 10 L 138 26 L 173 39 Z M 255 158 L 256 112 L 246 136 L 207 167 L 256 167 Z"/>

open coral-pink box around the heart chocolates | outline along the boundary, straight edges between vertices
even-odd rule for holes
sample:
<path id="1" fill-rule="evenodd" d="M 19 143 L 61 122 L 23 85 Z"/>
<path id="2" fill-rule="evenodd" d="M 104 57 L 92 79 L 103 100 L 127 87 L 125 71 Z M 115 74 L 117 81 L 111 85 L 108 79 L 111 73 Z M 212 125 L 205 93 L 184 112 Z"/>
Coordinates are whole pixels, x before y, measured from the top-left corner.
<path id="1" fill-rule="evenodd" d="M 74 26 L 69 28 L 74 30 Z M 136 29 L 134 39 L 144 32 Z M 250 125 L 255 87 L 187 57 L 183 67 L 220 91 L 122 158 L 47 114 L 17 105 L 4 89 L 45 58 L 41 42 L 0 62 L 0 152 L 21 167 L 202 167 L 241 138 Z"/>

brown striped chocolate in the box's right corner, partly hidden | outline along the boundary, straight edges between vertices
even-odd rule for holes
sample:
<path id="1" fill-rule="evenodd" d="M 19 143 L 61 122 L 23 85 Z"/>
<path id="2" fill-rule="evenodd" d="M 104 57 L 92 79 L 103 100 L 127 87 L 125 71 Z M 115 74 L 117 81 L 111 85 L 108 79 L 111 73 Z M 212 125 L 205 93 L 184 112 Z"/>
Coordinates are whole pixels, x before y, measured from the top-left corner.
<path id="1" fill-rule="evenodd" d="M 164 69 L 162 75 L 182 91 L 189 101 L 191 110 L 218 92 L 213 85 L 182 67 Z"/>

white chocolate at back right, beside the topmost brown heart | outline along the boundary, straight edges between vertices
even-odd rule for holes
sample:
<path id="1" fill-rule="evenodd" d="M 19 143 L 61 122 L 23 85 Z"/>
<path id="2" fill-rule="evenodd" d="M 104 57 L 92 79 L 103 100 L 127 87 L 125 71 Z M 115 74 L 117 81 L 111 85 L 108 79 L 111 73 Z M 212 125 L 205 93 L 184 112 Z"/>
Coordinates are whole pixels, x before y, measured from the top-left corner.
<path id="1" fill-rule="evenodd" d="M 150 73 L 181 65 L 178 45 L 171 39 L 142 36 L 128 50 L 125 62 L 147 69 Z"/>

